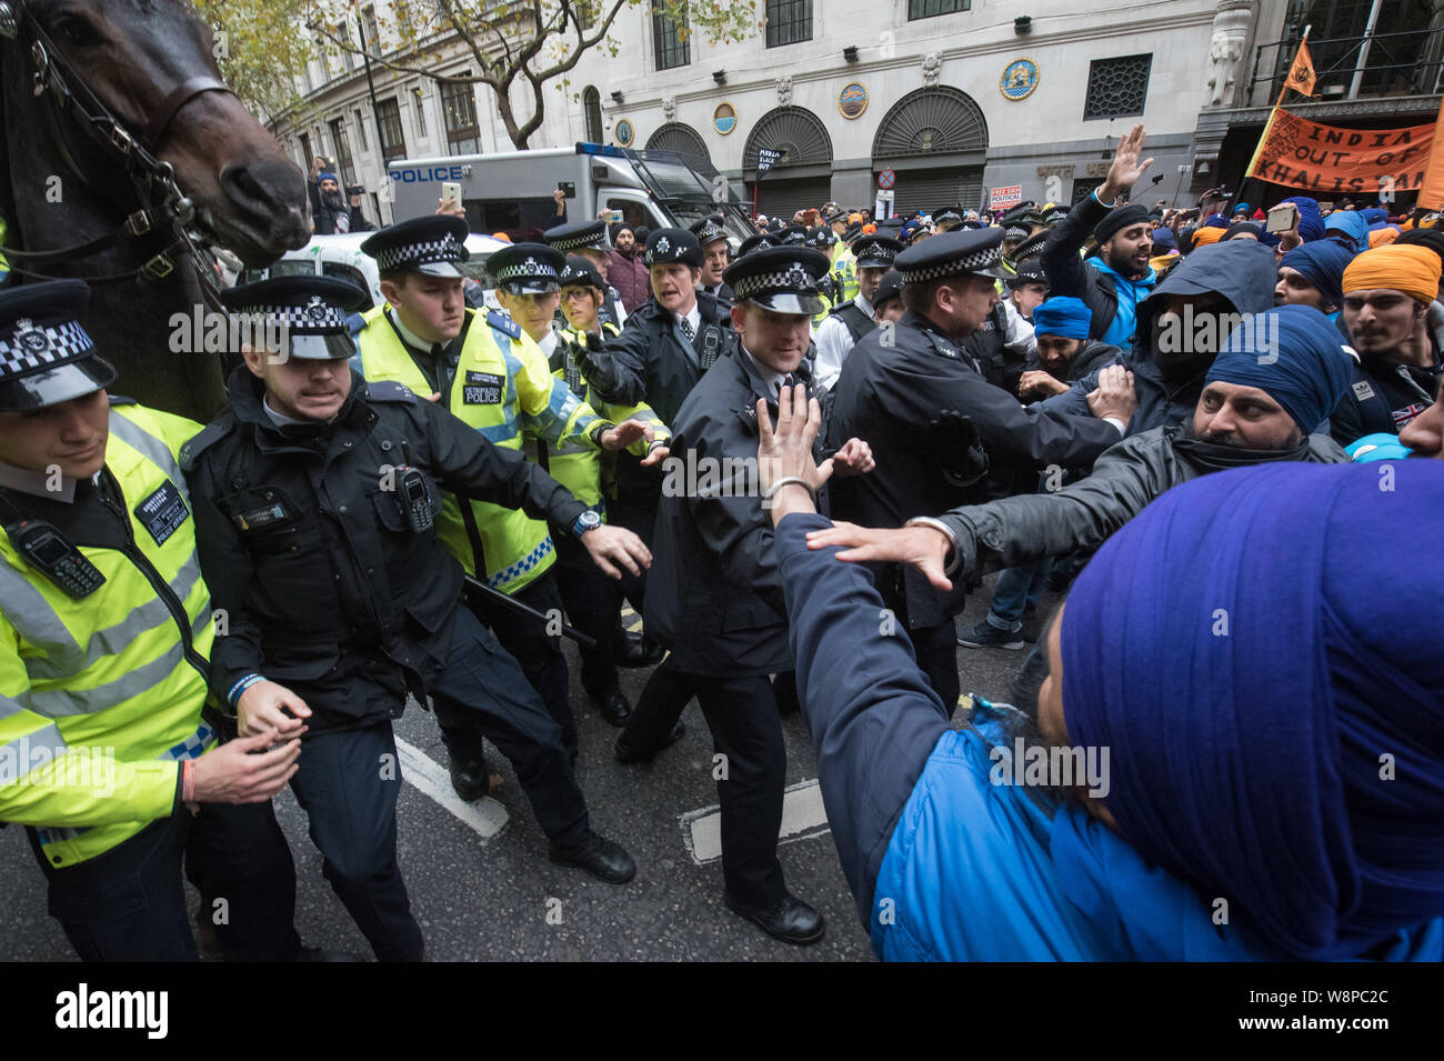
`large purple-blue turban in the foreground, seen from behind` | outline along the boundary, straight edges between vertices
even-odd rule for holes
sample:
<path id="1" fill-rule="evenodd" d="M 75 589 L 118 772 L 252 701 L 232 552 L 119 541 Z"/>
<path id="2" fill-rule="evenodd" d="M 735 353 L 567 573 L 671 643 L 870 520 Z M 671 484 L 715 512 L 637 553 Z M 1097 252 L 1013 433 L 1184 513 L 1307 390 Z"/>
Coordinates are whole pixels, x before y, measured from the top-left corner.
<path id="1" fill-rule="evenodd" d="M 1063 614 L 1069 739 L 1109 749 L 1119 833 L 1288 959 L 1444 915 L 1444 593 L 1373 547 L 1405 527 L 1444 540 L 1444 463 L 1216 472 L 1109 538 Z"/>

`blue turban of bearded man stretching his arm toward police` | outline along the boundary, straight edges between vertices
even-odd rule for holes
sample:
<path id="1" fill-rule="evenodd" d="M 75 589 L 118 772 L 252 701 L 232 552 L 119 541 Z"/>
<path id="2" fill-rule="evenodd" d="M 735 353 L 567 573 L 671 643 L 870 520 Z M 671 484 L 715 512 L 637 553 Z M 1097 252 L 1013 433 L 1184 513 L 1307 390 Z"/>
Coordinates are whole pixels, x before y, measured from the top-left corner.
<path id="1" fill-rule="evenodd" d="M 1213 381 L 1258 387 L 1311 433 L 1353 378 L 1337 326 L 1313 306 L 1274 306 L 1246 316 L 1213 359 Z"/>

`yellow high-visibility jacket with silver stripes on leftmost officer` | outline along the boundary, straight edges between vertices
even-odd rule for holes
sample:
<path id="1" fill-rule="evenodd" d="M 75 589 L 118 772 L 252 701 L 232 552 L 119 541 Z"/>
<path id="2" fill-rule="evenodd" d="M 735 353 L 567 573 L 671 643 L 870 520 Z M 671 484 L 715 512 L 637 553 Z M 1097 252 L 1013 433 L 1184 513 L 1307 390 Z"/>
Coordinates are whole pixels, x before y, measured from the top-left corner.
<path id="1" fill-rule="evenodd" d="M 0 536 L 0 820 L 36 827 L 51 866 L 170 816 L 178 762 L 214 745 L 201 709 L 215 625 L 176 463 L 199 429 L 143 406 L 111 409 L 101 484 L 81 484 L 75 504 L 91 527 L 114 518 L 124 547 L 91 546 L 52 520 L 105 576 L 88 596 L 72 599 Z M 26 495 L 6 497 L 36 518 Z M 0 505 L 7 524 L 14 510 Z"/>

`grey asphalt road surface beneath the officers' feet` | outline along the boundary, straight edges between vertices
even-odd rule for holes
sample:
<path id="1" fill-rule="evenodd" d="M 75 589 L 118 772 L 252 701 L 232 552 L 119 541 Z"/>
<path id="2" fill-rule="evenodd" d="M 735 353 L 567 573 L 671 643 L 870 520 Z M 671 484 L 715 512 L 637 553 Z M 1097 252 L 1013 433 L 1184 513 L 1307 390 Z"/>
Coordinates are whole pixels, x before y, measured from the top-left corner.
<path id="1" fill-rule="evenodd" d="M 978 622 L 986 603 L 986 593 L 975 595 L 959 626 Z M 1048 603 L 1045 599 L 1044 612 Z M 1006 699 L 1022 655 L 960 648 L 963 691 Z M 575 654 L 570 663 L 572 707 L 582 743 L 579 781 L 592 824 L 632 853 L 637 878 L 615 886 L 553 866 L 546 857 L 546 837 L 510 764 L 492 749 L 491 762 L 504 778 L 492 797 L 507 813 L 507 823 L 494 836 L 484 837 L 414 784 L 401 787 L 400 862 L 429 960 L 872 960 L 825 824 L 803 829 L 778 849 L 788 889 L 827 920 L 820 944 L 778 943 L 728 911 L 722 905 L 721 863 L 699 865 L 684 824 L 697 817 L 696 811 L 716 805 L 712 743 L 700 710 L 695 703 L 687 707 L 687 735 L 656 762 L 624 767 L 612 758 L 618 730 L 592 712 L 578 680 Z M 622 689 L 634 702 L 647 673 L 622 671 Z M 438 768 L 445 767 L 446 754 L 429 712 L 409 712 L 396 732 Z M 783 732 L 787 784 L 814 780 L 816 764 L 801 719 L 784 717 Z M 803 797 L 816 797 L 816 790 L 797 794 L 803 804 L 809 803 Z M 276 800 L 276 811 L 296 859 L 302 937 L 310 946 L 370 957 L 365 940 L 321 876 L 321 856 L 290 793 Z M 0 830 L 0 894 L 7 896 L 0 914 L 0 960 L 74 957 L 46 915 L 43 878 L 19 827 Z M 192 902 L 198 902 L 193 892 Z"/>

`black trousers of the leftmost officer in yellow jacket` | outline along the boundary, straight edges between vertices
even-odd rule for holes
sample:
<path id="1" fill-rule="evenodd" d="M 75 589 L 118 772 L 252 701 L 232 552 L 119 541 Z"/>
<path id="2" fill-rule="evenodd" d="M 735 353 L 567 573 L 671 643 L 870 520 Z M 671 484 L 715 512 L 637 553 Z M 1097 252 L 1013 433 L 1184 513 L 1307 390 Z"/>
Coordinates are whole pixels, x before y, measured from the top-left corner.
<path id="1" fill-rule="evenodd" d="M 48 865 L 51 915 L 82 961 L 195 961 L 185 873 L 201 891 L 228 961 L 290 961 L 296 868 L 271 804 L 201 805 L 153 821 L 124 843 L 75 866 Z"/>

